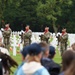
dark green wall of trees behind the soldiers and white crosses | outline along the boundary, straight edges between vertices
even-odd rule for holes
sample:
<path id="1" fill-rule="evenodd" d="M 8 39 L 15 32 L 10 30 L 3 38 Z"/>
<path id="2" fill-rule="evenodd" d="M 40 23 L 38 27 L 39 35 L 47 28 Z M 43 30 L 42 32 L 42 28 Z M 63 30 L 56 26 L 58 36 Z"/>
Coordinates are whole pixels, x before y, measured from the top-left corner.
<path id="1" fill-rule="evenodd" d="M 0 0 L 0 25 L 10 23 L 12 30 L 21 30 L 29 24 L 33 31 L 49 26 L 51 32 L 66 27 L 75 32 L 74 9 L 75 0 Z"/>

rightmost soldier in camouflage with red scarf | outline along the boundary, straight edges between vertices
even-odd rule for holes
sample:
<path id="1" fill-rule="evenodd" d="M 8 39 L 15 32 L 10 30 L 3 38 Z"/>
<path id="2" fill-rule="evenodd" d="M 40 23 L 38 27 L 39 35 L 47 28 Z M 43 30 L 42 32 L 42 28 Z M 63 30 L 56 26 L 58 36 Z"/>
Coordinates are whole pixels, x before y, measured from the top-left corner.
<path id="1" fill-rule="evenodd" d="M 64 51 L 66 51 L 67 49 L 67 42 L 68 42 L 68 33 L 66 32 L 66 29 L 63 29 L 60 41 L 61 56 L 63 55 Z"/>

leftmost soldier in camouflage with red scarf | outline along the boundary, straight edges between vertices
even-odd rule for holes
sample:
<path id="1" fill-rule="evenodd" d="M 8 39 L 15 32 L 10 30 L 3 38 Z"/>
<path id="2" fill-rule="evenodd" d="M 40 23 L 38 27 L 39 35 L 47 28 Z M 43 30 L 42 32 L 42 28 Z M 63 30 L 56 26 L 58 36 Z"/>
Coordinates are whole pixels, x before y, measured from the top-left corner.
<path id="1" fill-rule="evenodd" d="M 5 47 L 9 50 L 10 46 L 10 35 L 11 35 L 11 29 L 9 27 L 9 24 L 5 25 L 5 29 L 3 31 L 3 37 L 4 37 L 4 44 Z"/>

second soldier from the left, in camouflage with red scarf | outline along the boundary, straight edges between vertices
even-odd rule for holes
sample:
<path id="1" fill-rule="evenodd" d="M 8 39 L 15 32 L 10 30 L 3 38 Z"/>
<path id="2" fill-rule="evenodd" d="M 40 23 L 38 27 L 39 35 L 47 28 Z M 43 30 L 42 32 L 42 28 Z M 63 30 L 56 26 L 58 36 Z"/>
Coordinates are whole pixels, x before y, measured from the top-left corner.
<path id="1" fill-rule="evenodd" d="M 24 37 L 24 46 L 31 44 L 32 31 L 29 29 L 29 25 L 25 27 Z"/>

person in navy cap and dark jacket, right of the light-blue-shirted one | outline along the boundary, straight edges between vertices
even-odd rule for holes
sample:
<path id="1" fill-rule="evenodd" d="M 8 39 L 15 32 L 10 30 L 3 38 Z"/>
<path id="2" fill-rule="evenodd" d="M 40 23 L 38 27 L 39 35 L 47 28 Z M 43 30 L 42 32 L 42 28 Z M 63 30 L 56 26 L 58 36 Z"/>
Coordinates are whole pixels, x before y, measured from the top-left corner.
<path id="1" fill-rule="evenodd" d="M 48 58 L 42 58 L 42 65 L 49 71 L 51 75 L 58 75 L 60 73 L 60 65 L 55 63 L 52 59 L 55 56 L 55 48 L 53 46 L 49 47 Z"/>

